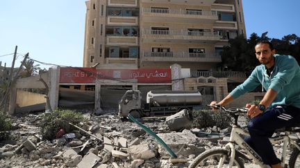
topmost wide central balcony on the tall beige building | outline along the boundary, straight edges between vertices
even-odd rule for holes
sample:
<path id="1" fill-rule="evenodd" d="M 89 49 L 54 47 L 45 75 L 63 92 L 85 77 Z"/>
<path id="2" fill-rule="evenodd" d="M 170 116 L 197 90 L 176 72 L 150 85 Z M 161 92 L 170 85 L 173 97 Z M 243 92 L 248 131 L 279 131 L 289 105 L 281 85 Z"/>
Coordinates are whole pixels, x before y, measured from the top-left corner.
<path id="1" fill-rule="evenodd" d="M 217 12 L 215 11 L 187 11 L 185 9 L 155 9 L 142 8 L 143 21 L 171 22 L 171 23 L 192 23 L 203 22 L 213 24 L 217 21 Z"/>

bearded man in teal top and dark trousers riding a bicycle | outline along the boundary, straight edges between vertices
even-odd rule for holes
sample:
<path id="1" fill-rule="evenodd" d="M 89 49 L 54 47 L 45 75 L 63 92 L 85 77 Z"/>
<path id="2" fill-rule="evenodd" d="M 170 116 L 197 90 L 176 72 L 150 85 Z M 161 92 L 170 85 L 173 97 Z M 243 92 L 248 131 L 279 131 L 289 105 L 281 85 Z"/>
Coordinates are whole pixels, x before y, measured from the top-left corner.
<path id="1" fill-rule="evenodd" d="M 256 66 L 244 83 L 237 86 L 219 104 L 224 106 L 244 93 L 253 91 L 260 84 L 267 91 L 259 104 L 247 104 L 250 137 L 245 140 L 262 157 L 263 162 L 272 167 L 281 167 L 269 137 L 276 129 L 300 123 L 300 68 L 290 55 L 275 55 L 269 41 L 259 41 L 255 46 Z"/>

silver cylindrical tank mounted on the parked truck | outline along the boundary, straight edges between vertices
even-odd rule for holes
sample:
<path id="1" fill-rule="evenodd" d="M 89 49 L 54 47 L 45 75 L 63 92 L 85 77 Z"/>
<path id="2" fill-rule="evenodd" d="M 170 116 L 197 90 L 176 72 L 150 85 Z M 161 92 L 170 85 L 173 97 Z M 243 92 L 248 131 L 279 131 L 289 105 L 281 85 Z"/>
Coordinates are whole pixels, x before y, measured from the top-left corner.
<path id="1" fill-rule="evenodd" d="M 149 91 L 147 103 L 152 106 L 188 106 L 201 105 L 199 91 Z"/>

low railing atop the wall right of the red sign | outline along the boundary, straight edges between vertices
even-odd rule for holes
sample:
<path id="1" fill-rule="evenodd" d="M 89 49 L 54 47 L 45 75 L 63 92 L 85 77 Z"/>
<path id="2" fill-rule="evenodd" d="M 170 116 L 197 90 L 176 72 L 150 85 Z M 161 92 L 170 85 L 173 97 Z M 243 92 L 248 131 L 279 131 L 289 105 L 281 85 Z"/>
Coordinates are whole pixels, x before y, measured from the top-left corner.
<path id="1" fill-rule="evenodd" d="M 245 73 L 239 71 L 194 71 L 191 77 L 247 77 Z"/>

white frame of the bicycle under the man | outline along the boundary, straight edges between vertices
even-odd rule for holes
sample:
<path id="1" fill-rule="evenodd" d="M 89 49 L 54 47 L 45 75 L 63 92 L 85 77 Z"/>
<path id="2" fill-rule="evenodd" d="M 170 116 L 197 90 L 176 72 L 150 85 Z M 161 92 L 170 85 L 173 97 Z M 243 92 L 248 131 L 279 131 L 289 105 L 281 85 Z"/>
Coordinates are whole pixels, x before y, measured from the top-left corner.
<path id="1" fill-rule="evenodd" d="M 253 158 L 254 163 L 260 165 L 260 167 L 269 167 L 268 165 L 265 165 L 263 163 L 263 160 L 258 155 L 258 153 L 256 153 L 256 151 L 254 151 L 254 149 L 252 149 L 249 146 L 249 144 L 247 144 L 247 142 L 245 142 L 244 139 L 240 135 L 249 136 L 249 132 L 242 129 L 242 128 L 240 128 L 240 127 L 238 127 L 238 126 L 236 126 L 236 125 L 233 125 L 232 130 L 231 130 L 231 137 L 230 137 L 230 140 L 229 140 L 230 142 L 228 142 L 225 146 L 225 148 L 231 149 L 231 160 L 229 162 L 229 167 L 233 166 L 233 160 L 235 158 L 235 144 L 238 144 L 238 146 L 240 146 L 242 149 L 247 151 L 247 154 L 249 156 L 251 156 L 251 158 Z M 288 143 L 289 142 L 300 150 L 299 145 L 296 142 L 294 142 L 294 140 L 291 140 L 290 132 L 288 132 L 288 131 L 285 131 L 285 134 L 282 135 L 282 136 L 269 138 L 269 140 L 272 144 L 283 142 L 283 153 L 281 155 L 281 162 L 283 164 L 285 164 L 285 160 L 286 160 L 285 158 L 286 158 L 287 148 L 288 148 Z M 224 160 L 225 160 L 225 158 L 223 157 L 219 161 L 219 166 L 218 167 L 222 167 Z"/>

